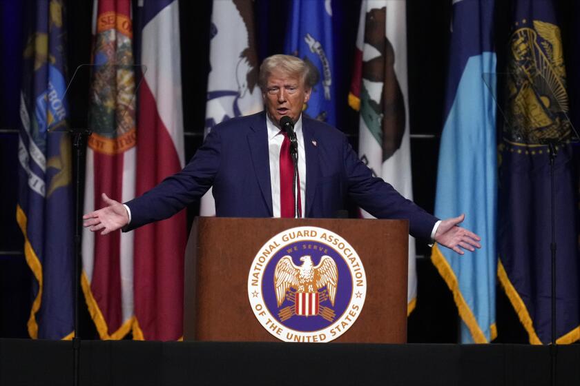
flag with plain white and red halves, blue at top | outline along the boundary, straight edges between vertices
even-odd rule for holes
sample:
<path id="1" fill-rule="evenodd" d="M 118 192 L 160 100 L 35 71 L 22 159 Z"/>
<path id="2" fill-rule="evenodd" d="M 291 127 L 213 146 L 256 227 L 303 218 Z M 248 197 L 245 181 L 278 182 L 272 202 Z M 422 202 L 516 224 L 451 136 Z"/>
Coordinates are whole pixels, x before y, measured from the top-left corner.
<path id="1" fill-rule="evenodd" d="M 139 88 L 137 195 L 184 165 L 179 3 L 145 1 Z M 186 212 L 135 230 L 133 337 L 176 340 L 183 334 Z"/>

